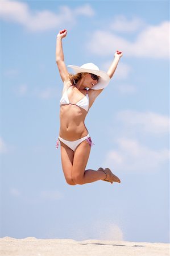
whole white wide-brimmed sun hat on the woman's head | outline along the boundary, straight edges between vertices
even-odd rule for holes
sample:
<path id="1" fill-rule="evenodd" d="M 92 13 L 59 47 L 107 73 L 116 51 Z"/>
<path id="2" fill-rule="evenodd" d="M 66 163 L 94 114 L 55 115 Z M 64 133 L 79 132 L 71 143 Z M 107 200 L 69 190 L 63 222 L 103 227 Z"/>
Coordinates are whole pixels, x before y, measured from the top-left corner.
<path id="1" fill-rule="evenodd" d="M 105 88 L 110 81 L 109 75 L 105 71 L 100 71 L 99 68 L 93 63 L 86 63 L 81 65 L 81 67 L 68 65 L 67 67 L 72 68 L 74 72 L 77 73 L 92 73 L 99 76 L 99 80 L 96 85 L 93 85 L 93 90 L 99 90 Z"/>

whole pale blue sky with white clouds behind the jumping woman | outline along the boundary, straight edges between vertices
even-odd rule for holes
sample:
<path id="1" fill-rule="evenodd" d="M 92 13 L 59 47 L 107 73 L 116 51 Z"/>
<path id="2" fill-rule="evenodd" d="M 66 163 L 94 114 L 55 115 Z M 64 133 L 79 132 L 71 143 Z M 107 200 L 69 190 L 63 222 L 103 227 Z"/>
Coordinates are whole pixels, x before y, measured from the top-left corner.
<path id="1" fill-rule="evenodd" d="M 169 241 L 169 2 L 1 1 L 1 236 Z M 86 168 L 122 183 L 70 186 L 61 169 L 56 35 L 65 63 L 107 71 L 86 117 Z"/>

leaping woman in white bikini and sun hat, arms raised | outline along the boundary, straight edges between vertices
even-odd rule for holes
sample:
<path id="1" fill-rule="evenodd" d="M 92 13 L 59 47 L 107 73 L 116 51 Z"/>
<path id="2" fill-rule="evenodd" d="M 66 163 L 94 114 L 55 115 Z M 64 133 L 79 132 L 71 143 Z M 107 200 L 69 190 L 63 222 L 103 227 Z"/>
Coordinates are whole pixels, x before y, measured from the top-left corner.
<path id="1" fill-rule="evenodd" d="M 60 100 L 60 136 L 57 140 L 61 145 L 61 163 L 65 180 L 69 185 L 91 183 L 97 180 L 121 182 L 109 168 L 85 170 L 93 142 L 85 127 L 84 121 L 89 109 L 103 88 L 109 84 L 117 68 L 122 52 L 117 51 L 113 63 L 106 72 L 99 71 L 93 63 L 81 67 L 68 66 L 76 71 L 68 73 L 64 63 L 62 39 L 67 30 L 61 30 L 56 40 L 56 63 L 63 80 L 63 96 Z M 86 88 L 89 88 L 88 90 Z"/>

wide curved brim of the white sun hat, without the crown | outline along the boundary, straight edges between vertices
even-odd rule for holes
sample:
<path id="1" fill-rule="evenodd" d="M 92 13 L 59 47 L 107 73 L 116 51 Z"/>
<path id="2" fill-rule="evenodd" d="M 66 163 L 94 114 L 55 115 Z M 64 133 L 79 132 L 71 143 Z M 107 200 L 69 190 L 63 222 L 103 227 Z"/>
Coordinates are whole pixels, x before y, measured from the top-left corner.
<path id="1" fill-rule="evenodd" d="M 110 77 L 105 71 L 86 69 L 74 65 L 68 65 L 67 67 L 72 68 L 73 71 L 76 73 L 92 73 L 94 75 L 99 76 L 97 84 L 93 85 L 92 87 L 93 90 L 103 89 L 109 84 Z"/>

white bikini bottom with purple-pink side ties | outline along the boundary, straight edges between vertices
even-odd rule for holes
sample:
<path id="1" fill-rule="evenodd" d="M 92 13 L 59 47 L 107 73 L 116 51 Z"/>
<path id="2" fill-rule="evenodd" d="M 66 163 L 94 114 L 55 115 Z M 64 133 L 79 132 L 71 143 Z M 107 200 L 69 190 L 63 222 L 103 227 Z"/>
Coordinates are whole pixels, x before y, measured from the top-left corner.
<path id="1" fill-rule="evenodd" d="M 76 150 L 76 147 L 82 142 L 82 141 L 85 141 L 87 143 L 89 143 L 90 147 L 92 147 L 94 145 L 94 143 L 92 142 L 91 138 L 90 138 L 90 135 L 86 135 L 85 137 L 83 138 L 80 138 L 80 139 L 77 139 L 76 141 L 66 141 L 66 139 L 63 139 L 61 137 L 59 137 L 57 139 L 57 144 L 56 144 L 56 148 L 59 147 L 59 141 L 63 142 L 65 145 L 67 145 L 69 148 L 71 148 L 71 150 Z"/>

